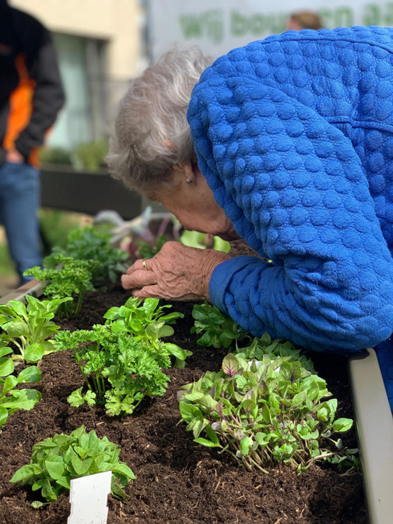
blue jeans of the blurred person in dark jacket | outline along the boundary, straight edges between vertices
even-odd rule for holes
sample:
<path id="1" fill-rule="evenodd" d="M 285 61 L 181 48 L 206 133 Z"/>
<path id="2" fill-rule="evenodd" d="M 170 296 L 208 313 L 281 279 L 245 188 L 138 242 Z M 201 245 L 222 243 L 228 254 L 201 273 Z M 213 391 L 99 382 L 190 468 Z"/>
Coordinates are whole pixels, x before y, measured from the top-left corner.
<path id="1" fill-rule="evenodd" d="M 0 166 L 0 223 L 6 228 L 10 255 L 20 284 L 31 277 L 22 273 L 41 265 L 37 210 L 40 205 L 40 173 L 29 163 L 4 162 Z"/>

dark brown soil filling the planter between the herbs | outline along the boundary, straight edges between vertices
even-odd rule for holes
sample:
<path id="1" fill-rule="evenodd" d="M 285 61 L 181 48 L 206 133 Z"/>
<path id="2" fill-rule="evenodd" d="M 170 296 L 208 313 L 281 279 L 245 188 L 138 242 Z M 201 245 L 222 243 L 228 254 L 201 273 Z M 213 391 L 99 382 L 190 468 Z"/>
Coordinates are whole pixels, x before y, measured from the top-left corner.
<path id="1" fill-rule="evenodd" d="M 112 286 L 105 294 L 86 299 L 80 319 L 62 322 L 64 328 L 89 328 L 102 314 L 126 301 L 127 293 Z M 110 419 L 101 408 L 75 409 L 68 395 L 82 386 L 80 371 L 68 352 L 52 354 L 40 364 L 43 380 L 35 385 L 43 399 L 31 412 L 16 412 L 0 435 L 0 523 L 66 524 L 68 496 L 61 495 L 44 509 L 31 508 L 34 495 L 9 479 L 29 463 L 33 444 L 54 433 L 71 432 L 84 424 L 121 447 L 120 458 L 136 475 L 126 488 L 129 499 L 109 497 L 109 524 L 364 524 L 367 522 L 362 479 L 343 476 L 329 467 L 313 466 L 302 475 L 288 467 L 272 467 L 269 474 L 244 472 L 229 456 L 195 444 L 179 421 L 177 389 L 218 370 L 223 352 L 198 347 L 189 333 L 191 304 L 175 304 L 186 314 L 177 322 L 175 342 L 194 351 L 188 367 L 168 370 L 168 391 L 144 405 L 134 416 Z M 320 374 L 339 398 L 339 416 L 352 417 L 348 377 L 341 358 L 316 356 Z M 355 435 L 345 444 L 355 446 Z"/>

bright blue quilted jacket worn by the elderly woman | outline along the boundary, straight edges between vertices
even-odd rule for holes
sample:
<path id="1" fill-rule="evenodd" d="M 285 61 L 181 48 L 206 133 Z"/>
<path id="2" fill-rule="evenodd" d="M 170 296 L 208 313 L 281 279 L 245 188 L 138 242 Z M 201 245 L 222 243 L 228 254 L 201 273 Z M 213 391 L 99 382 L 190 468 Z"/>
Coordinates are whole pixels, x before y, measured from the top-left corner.
<path id="1" fill-rule="evenodd" d="M 377 347 L 392 405 L 393 29 L 288 31 L 232 50 L 202 74 L 188 122 L 217 203 L 272 261 L 218 265 L 212 302 L 253 335 Z"/>

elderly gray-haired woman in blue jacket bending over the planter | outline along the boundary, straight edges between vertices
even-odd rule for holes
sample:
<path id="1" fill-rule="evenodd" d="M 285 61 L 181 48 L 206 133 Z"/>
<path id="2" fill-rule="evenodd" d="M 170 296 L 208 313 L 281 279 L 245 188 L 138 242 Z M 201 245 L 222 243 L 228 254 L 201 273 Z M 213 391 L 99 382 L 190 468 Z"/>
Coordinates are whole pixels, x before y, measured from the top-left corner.
<path id="1" fill-rule="evenodd" d="M 119 108 L 113 175 L 262 259 L 168 242 L 124 288 L 207 298 L 253 335 L 316 351 L 379 344 L 393 402 L 392 53 L 393 29 L 353 27 L 148 68 Z"/>

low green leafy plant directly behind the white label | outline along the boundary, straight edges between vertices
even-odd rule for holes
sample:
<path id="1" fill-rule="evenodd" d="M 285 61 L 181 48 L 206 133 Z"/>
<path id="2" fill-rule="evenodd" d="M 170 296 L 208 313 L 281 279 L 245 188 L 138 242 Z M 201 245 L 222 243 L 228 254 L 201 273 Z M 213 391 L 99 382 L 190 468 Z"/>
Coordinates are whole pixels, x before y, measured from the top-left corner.
<path id="1" fill-rule="evenodd" d="M 112 471 L 111 493 L 119 500 L 127 498 L 125 488 L 135 475 L 124 462 L 119 461 L 120 450 L 107 437 L 99 439 L 94 430 L 87 433 L 82 425 L 70 435 L 54 435 L 33 446 L 29 465 L 22 466 L 10 482 L 41 490 L 47 503 L 61 493 L 68 493 L 71 480 L 80 476 Z M 31 504 L 43 506 L 39 500 Z"/>

